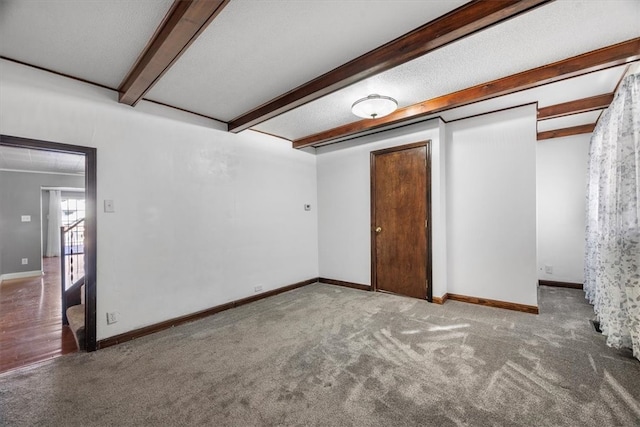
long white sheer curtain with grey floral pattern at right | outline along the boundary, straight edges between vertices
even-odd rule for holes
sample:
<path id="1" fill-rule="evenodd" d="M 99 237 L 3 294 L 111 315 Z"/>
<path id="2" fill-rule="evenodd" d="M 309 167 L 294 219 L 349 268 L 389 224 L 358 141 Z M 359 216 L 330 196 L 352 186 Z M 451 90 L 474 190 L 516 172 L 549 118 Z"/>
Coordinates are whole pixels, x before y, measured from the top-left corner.
<path id="1" fill-rule="evenodd" d="M 625 77 L 591 138 L 585 255 L 607 345 L 640 359 L 640 74 Z"/>

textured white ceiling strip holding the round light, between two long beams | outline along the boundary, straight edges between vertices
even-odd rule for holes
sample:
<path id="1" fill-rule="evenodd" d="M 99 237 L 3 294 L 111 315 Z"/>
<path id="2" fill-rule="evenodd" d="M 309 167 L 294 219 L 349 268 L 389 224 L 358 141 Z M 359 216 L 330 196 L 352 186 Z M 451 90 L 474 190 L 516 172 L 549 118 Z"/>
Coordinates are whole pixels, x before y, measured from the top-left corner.
<path id="1" fill-rule="evenodd" d="M 404 107 L 638 36 L 640 1 L 558 0 L 255 128 L 298 139 L 357 121 L 351 104 L 370 93 Z"/>

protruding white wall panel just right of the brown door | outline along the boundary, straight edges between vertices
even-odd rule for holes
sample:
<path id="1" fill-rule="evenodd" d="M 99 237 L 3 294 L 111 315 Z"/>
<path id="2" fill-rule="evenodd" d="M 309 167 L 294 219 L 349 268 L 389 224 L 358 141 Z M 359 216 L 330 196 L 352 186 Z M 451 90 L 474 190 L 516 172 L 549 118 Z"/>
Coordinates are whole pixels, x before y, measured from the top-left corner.
<path id="1" fill-rule="evenodd" d="M 447 124 L 448 292 L 537 305 L 536 108 Z"/>

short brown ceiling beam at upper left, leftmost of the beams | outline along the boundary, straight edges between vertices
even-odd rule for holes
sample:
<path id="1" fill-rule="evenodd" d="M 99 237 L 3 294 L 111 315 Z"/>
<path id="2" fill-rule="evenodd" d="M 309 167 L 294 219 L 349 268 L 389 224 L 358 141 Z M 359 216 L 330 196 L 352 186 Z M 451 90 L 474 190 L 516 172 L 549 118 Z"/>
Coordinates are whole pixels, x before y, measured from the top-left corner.
<path id="1" fill-rule="evenodd" d="M 136 105 L 230 0 L 175 0 L 124 78 L 119 101 Z"/>

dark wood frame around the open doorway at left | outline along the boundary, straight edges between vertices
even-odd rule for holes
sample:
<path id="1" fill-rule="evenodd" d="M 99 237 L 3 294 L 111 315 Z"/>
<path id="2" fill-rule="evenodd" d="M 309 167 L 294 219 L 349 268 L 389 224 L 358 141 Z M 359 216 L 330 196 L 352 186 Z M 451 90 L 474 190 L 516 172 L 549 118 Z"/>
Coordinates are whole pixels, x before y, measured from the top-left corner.
<path id="1" fill-rule="evenodd" d="M 96 149 L 0 134 L 0 145 L 84 155 L 85 176 L 85 343 L 87 351 L 97 350 L 96 341 L 96 242 L 97 181 Z"/>

